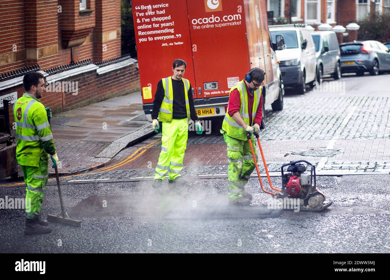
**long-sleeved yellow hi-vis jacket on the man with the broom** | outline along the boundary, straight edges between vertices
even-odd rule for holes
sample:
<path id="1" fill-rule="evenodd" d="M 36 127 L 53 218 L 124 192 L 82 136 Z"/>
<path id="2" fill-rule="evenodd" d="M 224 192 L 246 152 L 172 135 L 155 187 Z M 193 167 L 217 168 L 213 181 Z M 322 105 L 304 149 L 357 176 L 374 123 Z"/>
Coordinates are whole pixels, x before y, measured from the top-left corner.
<path id="1" fill-rule="evenodd" d="M 20 165 L 39 166 L 39 159 L 55 154 L 46 109 L 38 99 L 25 93 L 14 105 L 16 159 Z"/>

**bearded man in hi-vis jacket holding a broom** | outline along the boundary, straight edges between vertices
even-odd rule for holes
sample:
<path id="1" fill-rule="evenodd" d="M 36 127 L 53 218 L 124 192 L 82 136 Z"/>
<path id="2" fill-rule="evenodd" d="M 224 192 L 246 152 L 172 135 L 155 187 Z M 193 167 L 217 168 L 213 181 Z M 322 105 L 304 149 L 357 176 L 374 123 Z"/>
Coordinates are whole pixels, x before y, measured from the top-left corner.
<path id="1" fill-rule="evenodd" d="M 49 157 L 53 168 L 58 157 L 48 120 L 51 110 L 39 101 L 45 90 L 43 74 L 30 72 L 23 77 L 26 92 L 14 105 L 16 122 L 16 159 L 21 166 L 26 187 L 25 234 L 50 233 L 48 221 L 39 217 L 48 181 Z"/>

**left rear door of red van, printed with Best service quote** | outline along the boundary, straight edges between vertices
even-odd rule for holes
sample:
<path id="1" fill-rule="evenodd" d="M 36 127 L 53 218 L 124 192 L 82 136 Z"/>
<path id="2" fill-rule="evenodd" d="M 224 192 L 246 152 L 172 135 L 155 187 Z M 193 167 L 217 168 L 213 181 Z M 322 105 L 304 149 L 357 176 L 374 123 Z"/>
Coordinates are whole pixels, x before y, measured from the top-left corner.
<path id="1" fill-rule="evenodd" d="M 186 1 L 133 0 L 132 3 L 138 67 L 144 110 L 151 109 L 157 83 L 172 76 L 172 63 L 187 63 L 184 78 L 195 85 L 190 27 Z"/>

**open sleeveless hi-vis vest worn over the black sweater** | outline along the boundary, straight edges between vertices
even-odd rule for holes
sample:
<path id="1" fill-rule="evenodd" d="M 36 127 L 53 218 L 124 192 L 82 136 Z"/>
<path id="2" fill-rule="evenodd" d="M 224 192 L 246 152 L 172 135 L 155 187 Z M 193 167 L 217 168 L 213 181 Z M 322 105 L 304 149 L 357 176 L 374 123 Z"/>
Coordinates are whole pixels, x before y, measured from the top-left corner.
<path id="1" fill-rule="evenodd" d="M 160 112 L 158 113 L 158 120 L 160 122 L 170 123 L 172 122 L 173 116 L 173 88 L 171 77 L 161 79 L 163 82 L 163 88 L 165 91 L 165 96 L 163 102 L 161 102 Z M 187 79 L 181 78 L 184 84 L 184 96 L 186 98 L 186 111 L 187 118 L 190 119 L 190 104 L 188 103 L 188 90 L 190 86 L 190 81 Z"/>

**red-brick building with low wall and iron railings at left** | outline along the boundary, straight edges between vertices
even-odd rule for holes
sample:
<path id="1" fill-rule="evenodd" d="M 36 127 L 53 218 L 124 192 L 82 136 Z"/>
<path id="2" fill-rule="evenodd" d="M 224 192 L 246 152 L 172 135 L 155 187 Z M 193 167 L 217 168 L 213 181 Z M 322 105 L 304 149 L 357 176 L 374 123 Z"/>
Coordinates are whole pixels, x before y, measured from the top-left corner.
<path id="1" fill-rule="evenodd" d="M 137 60 L 121 57 L 121 0 L 2 0 L 0 26 L 0 101 L 30 70 L 78 86 L 43 95 L 54 113 L 140 90 Z"/>

